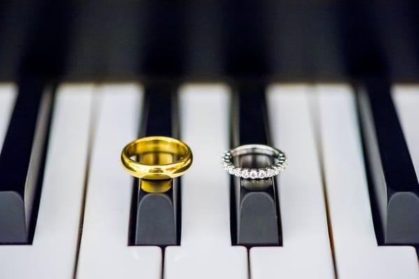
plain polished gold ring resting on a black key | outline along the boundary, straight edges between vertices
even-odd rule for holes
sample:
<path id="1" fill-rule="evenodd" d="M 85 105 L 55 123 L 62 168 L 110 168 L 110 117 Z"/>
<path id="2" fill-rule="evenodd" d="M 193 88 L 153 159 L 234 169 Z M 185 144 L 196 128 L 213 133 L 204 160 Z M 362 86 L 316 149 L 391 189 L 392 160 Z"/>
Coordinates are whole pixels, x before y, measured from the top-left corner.
<path id="1" fill-rule="evenodd" d="M 182 176 L 189 169 L 192 151 L 176 138 L 147 136 L 128 143 L 122 150 L 121 161 L 131 176 L 165 180 Z"/>

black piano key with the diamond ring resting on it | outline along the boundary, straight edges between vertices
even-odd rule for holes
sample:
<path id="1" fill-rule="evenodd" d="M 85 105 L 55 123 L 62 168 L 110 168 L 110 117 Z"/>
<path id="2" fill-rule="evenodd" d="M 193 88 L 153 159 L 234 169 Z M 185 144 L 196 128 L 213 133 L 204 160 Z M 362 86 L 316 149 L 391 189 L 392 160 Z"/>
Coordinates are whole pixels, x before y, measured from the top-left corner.
<path id="1" fill-rule="evenodd" d="M 265 87 L 239 85 L 233 97 L 231 145 L 270 145 Z M 272 164 L 265 155 L 247 155 L 235 164 L 260 168 Z M 281 245 L 281 218 L 274 178 L 246 180 L 231 178 L 231 233 L 235 245 Z"/>

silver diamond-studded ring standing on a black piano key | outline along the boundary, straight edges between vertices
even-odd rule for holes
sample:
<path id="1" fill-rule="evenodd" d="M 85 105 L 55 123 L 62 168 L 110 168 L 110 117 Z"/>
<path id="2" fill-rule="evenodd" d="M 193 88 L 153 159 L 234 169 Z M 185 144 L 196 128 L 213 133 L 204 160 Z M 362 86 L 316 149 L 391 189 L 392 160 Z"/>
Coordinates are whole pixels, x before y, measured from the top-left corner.
<path id="1" fill-rule="evenodd" d="M 240 157 L 242 155 L 250 154 L 271 156 L 277 162 L 272 164 L 272 166 L 267 166 L 266 168 L 260 169 L 242 169 L 239 166 L 235 166 L 235 164 L 233 164 L 233 157 Z M 287 159 L 284 152 L 278 150 L 277 148 L 272 148 L 268 145 L 249 144 L 241 145 L 233 150 L 224 152 L 221 159 L 221 165 L 232 176 L 237 176 L 244 179 L 265 179 L 272 178 L 279 175 L 279 173 L 282 173 L 286 168 Z"/>

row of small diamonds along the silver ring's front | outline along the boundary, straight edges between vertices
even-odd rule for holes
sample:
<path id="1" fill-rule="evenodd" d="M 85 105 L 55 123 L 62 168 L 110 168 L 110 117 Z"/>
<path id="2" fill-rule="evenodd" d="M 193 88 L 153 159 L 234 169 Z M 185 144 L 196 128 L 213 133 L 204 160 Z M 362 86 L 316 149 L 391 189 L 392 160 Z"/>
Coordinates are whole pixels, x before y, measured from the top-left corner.
<path id="1" fill-rule="evenodd" d="M 239 168 L 231 162 L 230 152 L 225 152 L 223 158 L 221 159 L 221 164 L 223 168 L 233 176 L 241 177 L 244 179 L 263 179 L 263 178 L 272 178 L 277 176 L 279 173 L 282 173 L 286 168 L 286 157 L 284 155 L 277 157 L 279 162 L 273 166 L 269 166 L 263 169 L 247 169 Z"/>

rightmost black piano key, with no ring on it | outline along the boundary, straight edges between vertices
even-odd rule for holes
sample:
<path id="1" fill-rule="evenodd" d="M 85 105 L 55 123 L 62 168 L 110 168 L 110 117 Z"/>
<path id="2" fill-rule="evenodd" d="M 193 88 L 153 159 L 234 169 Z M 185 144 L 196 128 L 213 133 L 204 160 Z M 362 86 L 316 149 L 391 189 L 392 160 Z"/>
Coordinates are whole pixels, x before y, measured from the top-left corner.
<path id="1" fill-rule="evenodd" d="M 358 109 L 378 243 L 418 245 L 418 178 L 390 85 L 367 80 L 358 92 Z"/>

